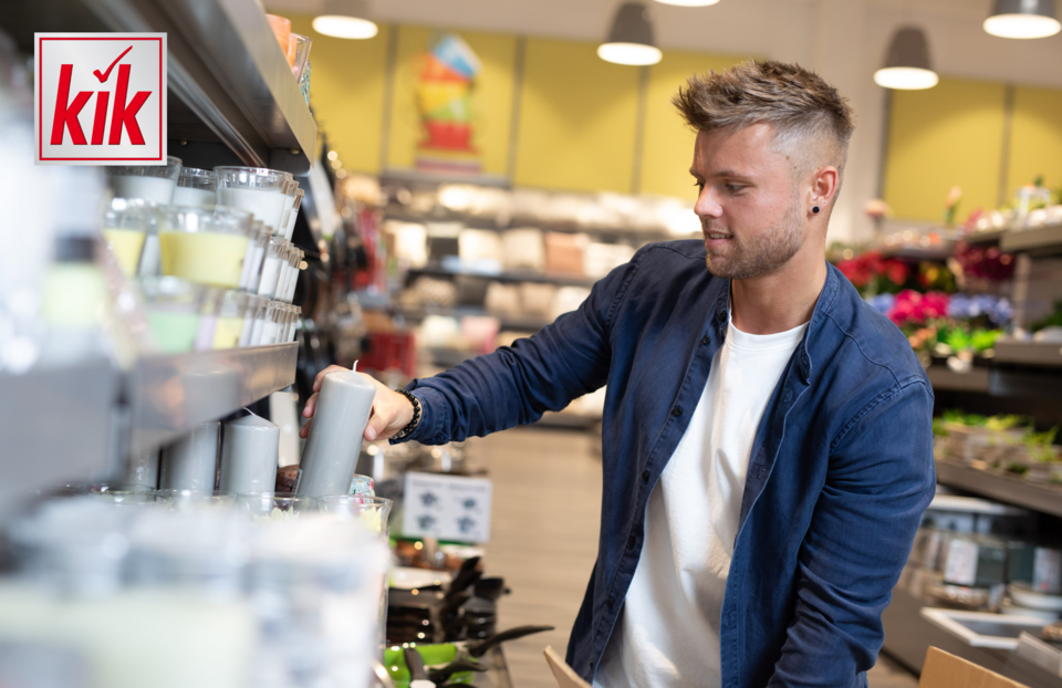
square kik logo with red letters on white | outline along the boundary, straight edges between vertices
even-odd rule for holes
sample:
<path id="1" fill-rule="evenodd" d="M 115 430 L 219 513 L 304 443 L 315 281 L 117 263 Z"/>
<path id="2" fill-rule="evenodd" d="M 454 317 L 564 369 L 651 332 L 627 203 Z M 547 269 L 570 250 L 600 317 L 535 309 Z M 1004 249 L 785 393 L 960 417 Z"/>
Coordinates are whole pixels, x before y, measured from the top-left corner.
<path id="1" fill-rule="evenodd" d="M 165 34 L 39 33 L 37 67 L 38 163 L 166 164 Z"/>

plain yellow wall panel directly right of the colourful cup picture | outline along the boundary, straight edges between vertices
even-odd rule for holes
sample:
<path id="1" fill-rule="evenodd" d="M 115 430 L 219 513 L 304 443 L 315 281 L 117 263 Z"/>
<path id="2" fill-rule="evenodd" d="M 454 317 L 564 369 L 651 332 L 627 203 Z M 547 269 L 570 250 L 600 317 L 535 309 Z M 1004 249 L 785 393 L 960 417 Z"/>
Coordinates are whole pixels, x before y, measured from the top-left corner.
<path id="1" fill-rule="evenodd" d="M 513 183 L 629 192 L 637 88 L 591 43 L 528 39 Z"/>

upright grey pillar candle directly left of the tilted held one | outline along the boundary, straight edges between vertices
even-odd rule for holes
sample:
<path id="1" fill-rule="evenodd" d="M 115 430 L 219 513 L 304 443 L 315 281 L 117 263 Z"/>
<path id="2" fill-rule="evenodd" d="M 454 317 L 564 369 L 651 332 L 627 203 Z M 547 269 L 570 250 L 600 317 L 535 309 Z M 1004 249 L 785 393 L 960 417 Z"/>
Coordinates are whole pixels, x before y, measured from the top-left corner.
<path id="1" fill-rule="evenodd" d="M 277 484 L 280 428 L 256 415 L 225 424 L 221 442 L 223 492 L 272 492 Z"/>

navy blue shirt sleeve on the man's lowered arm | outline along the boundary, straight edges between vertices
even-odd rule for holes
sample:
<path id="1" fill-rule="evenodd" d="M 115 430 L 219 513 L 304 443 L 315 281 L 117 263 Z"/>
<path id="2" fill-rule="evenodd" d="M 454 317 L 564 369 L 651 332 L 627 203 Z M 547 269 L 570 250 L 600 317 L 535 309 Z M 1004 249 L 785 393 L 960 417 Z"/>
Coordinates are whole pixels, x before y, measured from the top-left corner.
<path id="1" fill-rule="evenodd" d="M 874 666 L 882 612 L 933 500 L 933 397 L 920 378 L 870 402 L 834 444 L 771 687 L 850 688 Z"/>

